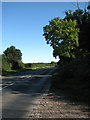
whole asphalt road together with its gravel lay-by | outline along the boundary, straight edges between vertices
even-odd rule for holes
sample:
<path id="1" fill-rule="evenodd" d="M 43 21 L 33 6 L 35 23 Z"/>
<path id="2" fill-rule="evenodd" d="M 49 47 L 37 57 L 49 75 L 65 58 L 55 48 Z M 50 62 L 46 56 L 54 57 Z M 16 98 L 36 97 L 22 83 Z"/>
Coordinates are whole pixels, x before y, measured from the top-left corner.
<path id="1" fill-rule="evenodd" d="M 29 70 L 2 78 L 2 118 L 88 118 L 88 106 L 50 93 L 55 68 Z"/>

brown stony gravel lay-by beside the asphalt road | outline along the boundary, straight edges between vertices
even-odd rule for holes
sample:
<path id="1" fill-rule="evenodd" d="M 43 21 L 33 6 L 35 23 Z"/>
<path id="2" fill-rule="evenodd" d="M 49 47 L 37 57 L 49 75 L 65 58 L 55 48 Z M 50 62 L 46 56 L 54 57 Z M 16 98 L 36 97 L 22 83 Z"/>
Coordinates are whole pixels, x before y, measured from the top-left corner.
<path id="1" fill-rule="evenodd" d="M 29 118 L 89 118 L 88 106 L 57 100 L 53 94 L 44 94 L 34 105 Z"/>

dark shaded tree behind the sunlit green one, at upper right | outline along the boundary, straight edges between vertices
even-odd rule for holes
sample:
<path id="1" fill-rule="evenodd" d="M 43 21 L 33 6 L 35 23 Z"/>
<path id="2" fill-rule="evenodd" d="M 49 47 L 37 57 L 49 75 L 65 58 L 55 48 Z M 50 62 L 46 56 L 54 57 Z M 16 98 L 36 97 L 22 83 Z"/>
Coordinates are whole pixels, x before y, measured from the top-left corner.
<path id="1" fill-rule="evenodd" d="M 87 9 L 90 7 L 88 6 Z M 90 29 L 90 14 L 85 9 L 84 11 L 78 8 L 74 12 L 72 10 L 65 11 L 66 16 L 64 19 L 67 20 L 75 20 L 77 22 L 77 27 L 80 28 L 79 33 L 79 48 L 82 48 L 84 50 L 89 50 L 89 29 Z"/>

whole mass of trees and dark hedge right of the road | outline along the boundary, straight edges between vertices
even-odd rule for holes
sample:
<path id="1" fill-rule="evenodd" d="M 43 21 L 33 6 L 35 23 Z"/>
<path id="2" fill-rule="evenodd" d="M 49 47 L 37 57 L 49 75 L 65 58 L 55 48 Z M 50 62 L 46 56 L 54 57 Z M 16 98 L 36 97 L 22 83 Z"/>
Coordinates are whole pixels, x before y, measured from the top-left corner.
<path id="1" fill-rule="evenodd" d="M 58 69 L 51 80 L 51 88 L 63 90 L 70 97 L 75 97 L 75 100 L 88 101 L 90 14 L 79 8 L 65 13 L 64 19 L 54 18 L 43 28 L 47 44 L 53 47 L 54 57 L 60 58 Z"/>

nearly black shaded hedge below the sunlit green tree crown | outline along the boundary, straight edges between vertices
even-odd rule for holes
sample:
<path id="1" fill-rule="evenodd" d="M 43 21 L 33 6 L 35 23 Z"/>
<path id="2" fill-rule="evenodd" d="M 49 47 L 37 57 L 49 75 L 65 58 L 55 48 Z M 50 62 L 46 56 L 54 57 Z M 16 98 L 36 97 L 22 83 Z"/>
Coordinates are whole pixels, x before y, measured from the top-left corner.
<path id="1" fill-rule="evenodd" d="M 51 89 L 63 90 L 74 100 L 88 102 L 90 84 L 89 57 L 80 56 L 58 68 L 51 80 Z M 78 93 L 78 94 L 77 94 Z"/>

